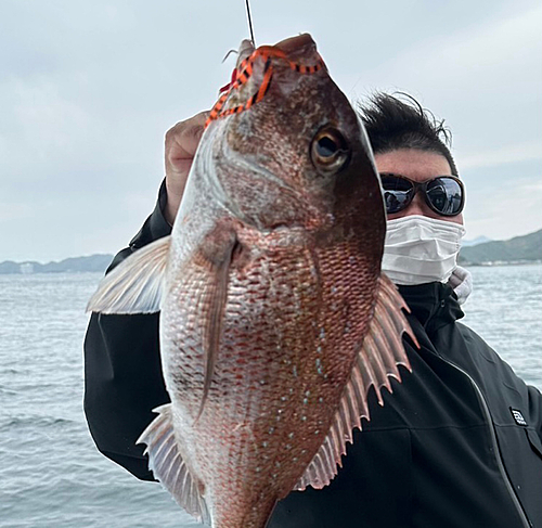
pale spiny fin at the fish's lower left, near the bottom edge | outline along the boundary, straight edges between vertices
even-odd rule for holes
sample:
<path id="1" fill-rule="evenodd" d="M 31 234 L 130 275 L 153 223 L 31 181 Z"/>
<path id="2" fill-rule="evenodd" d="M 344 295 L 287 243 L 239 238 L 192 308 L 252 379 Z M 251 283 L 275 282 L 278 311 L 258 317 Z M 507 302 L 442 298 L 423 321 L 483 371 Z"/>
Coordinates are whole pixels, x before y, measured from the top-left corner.
<path id="1" fill-rule="evenodd" d="M 146 443 L 149 467 L 177 503 L 197 519 L 209 523 L 205 499 L 179 452 L 171 420 L 171 403 L 158 407 L 154 412 L 159 413 L 158 416 L 151 422 L 137 443 Z"/>

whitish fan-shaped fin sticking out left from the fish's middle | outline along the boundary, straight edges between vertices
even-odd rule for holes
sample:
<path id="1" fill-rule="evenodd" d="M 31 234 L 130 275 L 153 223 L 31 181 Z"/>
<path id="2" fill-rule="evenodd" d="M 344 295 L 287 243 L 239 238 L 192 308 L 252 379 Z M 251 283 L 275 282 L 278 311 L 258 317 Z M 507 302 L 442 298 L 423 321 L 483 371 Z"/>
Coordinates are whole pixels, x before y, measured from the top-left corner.
<path id="1" fill-rule="evenodd" d="M 130 255 L 100 283 L 87 311 L 153 313 L 160 300 L 171 237 L 166 236 Z"/>

